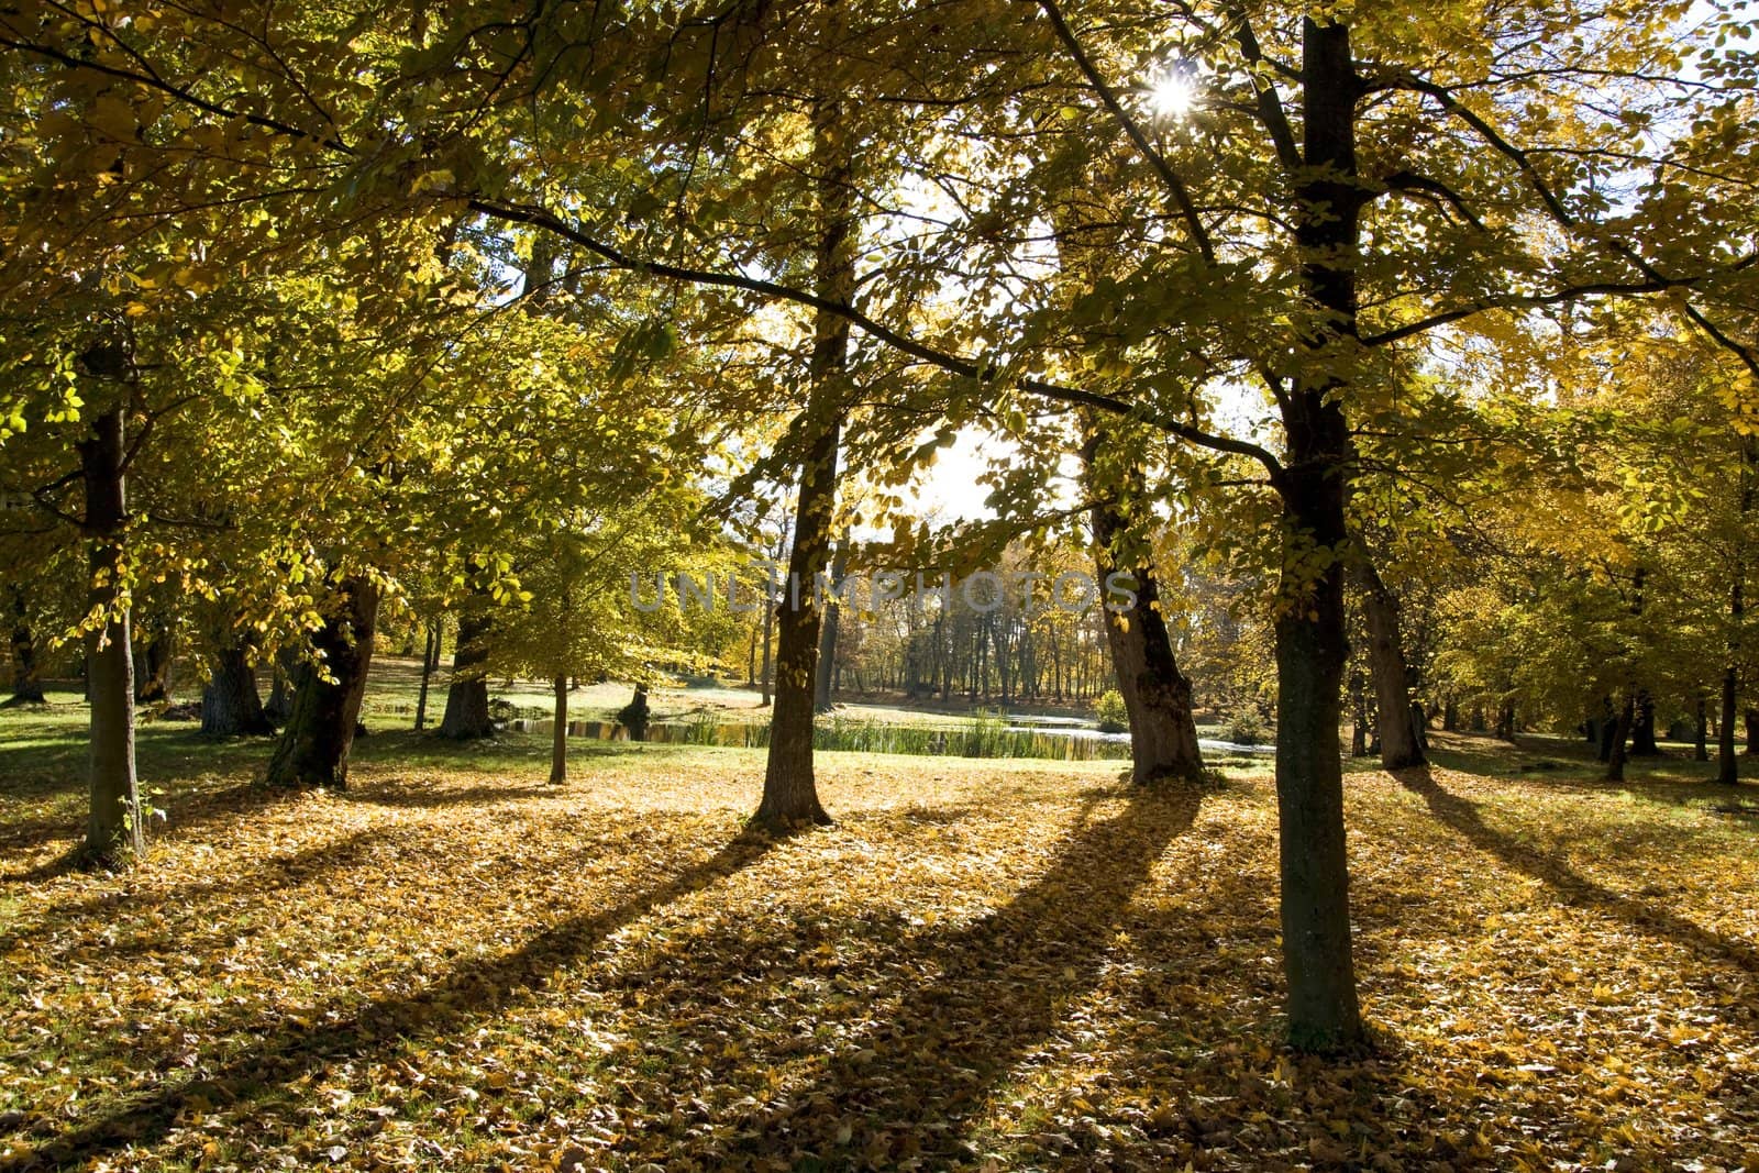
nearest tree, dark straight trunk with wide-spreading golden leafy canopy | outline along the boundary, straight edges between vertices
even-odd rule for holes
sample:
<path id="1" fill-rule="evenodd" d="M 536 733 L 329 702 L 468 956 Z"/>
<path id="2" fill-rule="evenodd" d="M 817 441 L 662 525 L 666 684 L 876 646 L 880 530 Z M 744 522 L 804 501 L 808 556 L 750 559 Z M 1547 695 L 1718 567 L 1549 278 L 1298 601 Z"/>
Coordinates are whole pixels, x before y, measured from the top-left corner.
<path id="1" fill-rule="evenodd" d="M 153 35 L 102 14 L 28 12 L 0 28 L 39 69 L 97 74 L 223 127 L 222 146 L 237 153 L 204 153 L 199 174 L 220 158 L 276 181 L 345 165 L 359 215 L 396 208 L 431 223 L 436 209 L 466 211 L 554 232 L 644 278 L 843 318 L 945 371 L 941 417 L 953 422 L 1080 406 L 1258 461 L 1282 514 L 1274 626 L 1289 1029 L 1302 1046 L 1358 1043 L 1337 732 L 1360 429 L 1390 420 L 1393 440 L 1425 434 L 1430 420 L 1393 410 L 1398 357 L 1418 343 L 1499 346 L 1511 327 L 1604 297 L 1668 295 L 1745 376 L 1759 375 L 1724 318 L 1752 281 L 1741 211 L 1752 132 L 1726 88 L 1752 84 L 1754 65 L 1717 42 L 1733 18 L 1682 28 L 1683 4 L 1428 5 L 1421 21 L 1402 4 L 1166 14 L 1133 0 L 1069 12 L 1041 0 L 1043 19 L 1027 25 L 976 0 L 957 21 L 890 5 L 821 23 L 825 11 L 792 5 L 640 11 L 623 23 L 565 7 L 521 26 L 489 12 L 450 5 L 442 26 L 419 21 L 422 44 L 410 47 L 408 12 L 394 11 L 375 28 L 383 40 L 313 35 L 243 65 L 225 53 L 223 23 L 193 12 Z M 315 12 L 296 19 L 331 30 Z M 631 67 L 558 67 L 582 46 Z M 227 69 L 208 81 L 201 67 L 216 62 Z M 1184 98 L 1168 109 L 1184 109 L 1187 128 L 1145 127 L 1142 95 L 1112 81 L 1152 69 L 1175 72 L 1164 88 Z M 281 84 L 288 74 L 303 84 Z M 385 79 L 389 97 L 362 100 L 350 91 L 359 77 Z M 922 216 L 923 234 L 881 234 L 872 280 L 857 276 L 844 295 L 769 264 L 788 251 L 772 230 L 786 216 L 767 215 L 776 172 L 751 167 L 746 149 L 786 137 L 763 98 L 802 83 L 825 93 L 827 79 L 858 81 L 864 106 L 890 113 L 864 139 L 908 142 L 913 178 L 953 206 Z M 239 109 L 241 90 L 262 100 Z M 315 120 L 313 102 L 336 113 Z M 1617 118 L 1601 116 L 1608 106 Z M 86 127 L 70 121 L 51 121 L 44 139 L 77 144 Z M 1131 165 L 1110 174 L 1117 202 L 1138 211 L 1115 280 L 1078 306 L 1117 329 L 1077 369 L 1062 306 L 1022 250 L 1043 236 L 1052 193 L 1101 151 L 1128 153 Z M 869 179 L 869 206 L 888 208 L 892 172 L 869 174 L 885 176 Z M 412 192 L 427 197 L 413 211 Z M 974 301 L 974 287 L 994 295 Z M 1274 406 L 1263 433 L 1217 422 L 1221 390 L 1244 383 Z M 915 392 L 897 403 L 918 406 Z M 802 547 L 814 549 L 807 535 Z M 786 728 L 795 744 L 799 721 Z"/>

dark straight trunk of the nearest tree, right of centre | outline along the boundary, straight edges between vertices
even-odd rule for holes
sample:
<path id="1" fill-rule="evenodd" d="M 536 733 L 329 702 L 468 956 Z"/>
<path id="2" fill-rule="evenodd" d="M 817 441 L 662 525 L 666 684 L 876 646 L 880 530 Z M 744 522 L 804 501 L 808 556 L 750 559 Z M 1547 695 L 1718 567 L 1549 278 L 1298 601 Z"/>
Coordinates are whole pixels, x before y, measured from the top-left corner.
<path id="1" fill-rule="evenodd" d="M 1351 441 L 1342 385 L 1323 371 L 1332 352 L 1347 350 L 1356 332 L 1354 266 L 1365 188 L 1353 179 L 1360 86 L 1349 28 L 1307 18 L 1302 40 L 1305 171 L 1295 190 L 1295 236 L 1316 320 L 1302 336 L 1314 371 L 1281 403 L 1288 463 L 1277 477 L 1286 600 L 1275 623 L 1277 825 L 1289 1039 L 1303 1050 L 1337 1050 L 1360 1045 L 1363 1029 L 1337 744 L 1349 656 L 1340 557 Z M 1330 557 L 1300 557 L 1307 543 Z"/>

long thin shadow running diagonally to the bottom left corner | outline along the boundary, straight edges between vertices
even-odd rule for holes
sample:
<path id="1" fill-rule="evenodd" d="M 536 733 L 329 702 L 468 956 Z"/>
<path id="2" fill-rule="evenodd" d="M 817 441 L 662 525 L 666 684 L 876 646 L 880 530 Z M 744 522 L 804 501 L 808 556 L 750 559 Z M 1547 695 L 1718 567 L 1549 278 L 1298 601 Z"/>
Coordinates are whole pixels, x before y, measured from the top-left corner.
<path id="1" fill-rule="evenodd" d="M 408 1036 L 457 1031 L 500 1013 L 522 992 L 588 957 L 607 936 L 647 913 L 700 892 L 756 863 L 776 841 L 742 834 L 707 860 L 619 904 L 572 916 L 533 936 L 519 950 L 473 960 L 408 995 L 382 997 L 352 1011 L 311 1015 L 310 1025 L 283 1025 L 232 1055 L 218 1071 L 134 1097 L 104 1117 L 47 1140 L 35 1152 L 0 1162 L 0 1171 L 86 1164 L 123 1145 L 151 1145 L 172 1127 L 193 1096 L 239 1111 L 292 1089 L 303 1076 L 345 1059 L 369 1059 Z"/>

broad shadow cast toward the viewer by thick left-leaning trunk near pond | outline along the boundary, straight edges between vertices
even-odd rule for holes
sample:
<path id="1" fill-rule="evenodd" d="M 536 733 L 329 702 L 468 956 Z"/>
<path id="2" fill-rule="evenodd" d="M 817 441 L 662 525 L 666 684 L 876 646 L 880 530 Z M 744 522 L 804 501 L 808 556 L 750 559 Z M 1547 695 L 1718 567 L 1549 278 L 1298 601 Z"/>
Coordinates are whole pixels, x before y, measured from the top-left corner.
<path id="1" fill-rule="evenodd" d="M 774 1155 L 834 1152 L 823 1129 L 860 1122 L 862 1152 L 880 1134 L 913 1138 L 929 1164 L 959 1154 L 960 1124 L 1010 1067 L 1052 1038 L 1062 1004 L 1091 990 L 1117 923 L 1166 848 L 1191 828 L 1196 793 L 1135 791 L 1124 812 L 1082 825 L 1031 886 L 980 922 L 911 941 L 888 964 L 939 971 L 853 1039 L 809 1087 L 790 1099 L 811 1113 L 772 1111 L 753 1124 L 749 1145 Z M 813 1133 L 811 1129 L 820 1131 Z M 711 1154 L 712 1155 L 712 1154 Z M 906 1154 L 880 1155 L 880 1162 Z"/>

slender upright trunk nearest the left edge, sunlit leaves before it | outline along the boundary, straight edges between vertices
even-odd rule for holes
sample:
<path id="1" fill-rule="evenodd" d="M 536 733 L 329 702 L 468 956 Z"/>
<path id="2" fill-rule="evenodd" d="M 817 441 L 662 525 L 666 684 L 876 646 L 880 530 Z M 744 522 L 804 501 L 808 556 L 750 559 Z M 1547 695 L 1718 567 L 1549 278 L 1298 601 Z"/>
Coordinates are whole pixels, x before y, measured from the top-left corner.
<path id="1" fill-rule="evenodd" d="M 123 413 L 113 408 L 91 424 L 79 443 L 84 477 L 84 528 L 91 536 L 91 608 L 104 614 L 88 638 L 86 684 L 91 695 L 91 809 L 84 855 L 97 863 L 127 863 L 146 848 L 141 795 L 134 772 L 134 649 L 128 645 L 128 600 L 121 533 L 127 522 L 123 484 Z"/>

